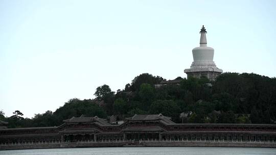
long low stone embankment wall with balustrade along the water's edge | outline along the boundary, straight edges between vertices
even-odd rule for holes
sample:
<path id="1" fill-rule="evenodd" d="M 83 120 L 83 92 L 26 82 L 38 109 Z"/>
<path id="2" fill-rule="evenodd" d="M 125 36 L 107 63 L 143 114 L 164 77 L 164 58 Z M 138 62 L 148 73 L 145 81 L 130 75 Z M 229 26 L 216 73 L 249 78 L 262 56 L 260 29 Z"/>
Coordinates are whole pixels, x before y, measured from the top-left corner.
<path id="1" fill-rule="evenodd" d="M 54 142 L 54 143 L 23 143 L 2 144 L 0 150 L 11 149 L 39 149 L 39 148 L 74 148 L 74 147 L 273 147 L 276 142 L 250 142 L 250 141 L 94 141 L 94 142 Z"/>

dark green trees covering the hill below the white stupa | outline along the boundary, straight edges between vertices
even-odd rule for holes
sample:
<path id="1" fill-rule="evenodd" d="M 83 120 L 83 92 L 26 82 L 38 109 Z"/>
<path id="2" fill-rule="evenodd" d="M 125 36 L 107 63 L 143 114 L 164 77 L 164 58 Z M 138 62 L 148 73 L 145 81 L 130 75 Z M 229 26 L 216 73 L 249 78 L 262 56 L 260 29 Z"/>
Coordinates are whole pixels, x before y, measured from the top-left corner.
<path id="1" fill-rule="evenodd" d="M 159 114 L 184 123 L 274 123 L 276 116 L 276 79 L 254 73 L 222 73 L 215 82 L 206 77 L 182 79 L 179 85 L 155 88 L 164 81 L 143 73 L 125 89 L 112 92 L 108 85 L 96 89 L 95 99 L 73 98 L 55 112 L 23 118 L 20 111 L 11 117 L 0 113 L 9 127 L 57 126 L 73 116 L 98 116 L 118 119 L 134 114 Z M 183 117 L 179 117 L 181 115 Z"/>

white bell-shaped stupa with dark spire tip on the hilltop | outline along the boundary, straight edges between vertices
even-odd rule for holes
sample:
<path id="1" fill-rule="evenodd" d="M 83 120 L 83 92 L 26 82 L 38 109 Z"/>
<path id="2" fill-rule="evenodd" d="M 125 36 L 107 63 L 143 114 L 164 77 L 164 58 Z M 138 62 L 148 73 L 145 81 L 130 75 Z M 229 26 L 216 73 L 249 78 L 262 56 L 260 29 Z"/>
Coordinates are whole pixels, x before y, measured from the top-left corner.
<path id="1" fill-rule="evenodd" d="M 222 73 L 222 69 L 217 68 L 214 58 L 214 48 L 207 47 L 206 41 L 206 29 L 202 25 L 200 31 L 200 45 L 193 49 L 194 62 L 190 69 L 185 69 L 184 72 L 187 73 L 187 77 L 197 77 L 201 76 L 208 77 L 209 80 L 214 81 L 216 77 Z"/>

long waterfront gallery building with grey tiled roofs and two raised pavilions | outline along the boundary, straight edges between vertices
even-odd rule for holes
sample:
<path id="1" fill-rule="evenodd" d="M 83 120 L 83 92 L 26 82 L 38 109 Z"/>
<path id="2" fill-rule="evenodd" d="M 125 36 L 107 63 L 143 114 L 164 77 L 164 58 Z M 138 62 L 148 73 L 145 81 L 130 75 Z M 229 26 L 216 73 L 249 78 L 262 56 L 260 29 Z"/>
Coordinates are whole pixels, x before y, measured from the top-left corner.
<path id="1" fill-rule="evenodd" d="M 175 123 L 158 115 L 134 115 L 120 125 L 95 117 L 72 117 L 60 126 L 0 129 L 0 144 L 122 140 L 276 141 L 275 124 Z"/>

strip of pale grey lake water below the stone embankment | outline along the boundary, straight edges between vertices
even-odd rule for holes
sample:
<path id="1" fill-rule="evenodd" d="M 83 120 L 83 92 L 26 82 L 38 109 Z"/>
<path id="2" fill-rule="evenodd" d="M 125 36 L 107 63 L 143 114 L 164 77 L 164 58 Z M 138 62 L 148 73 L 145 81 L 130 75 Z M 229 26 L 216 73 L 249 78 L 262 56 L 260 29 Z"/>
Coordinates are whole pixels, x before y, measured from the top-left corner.
<path id="1" fill-rule="evenodd" d="M 55 155 L 55 154 L 102 154 L 102 155 L 259 155 L 276 154 L 276 148 L 254 148 L 254 147 L 90 147 L 90 148 L 54 148 L 54 149 L 26 149 L 26 150 L 3 150 L 1 155 Z"/>

